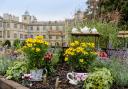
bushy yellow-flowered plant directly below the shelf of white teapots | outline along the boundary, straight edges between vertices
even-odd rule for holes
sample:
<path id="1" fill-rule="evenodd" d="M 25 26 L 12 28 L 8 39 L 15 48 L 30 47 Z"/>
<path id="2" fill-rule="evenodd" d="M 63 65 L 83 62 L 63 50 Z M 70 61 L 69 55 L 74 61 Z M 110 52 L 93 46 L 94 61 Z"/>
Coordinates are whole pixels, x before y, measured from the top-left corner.
<path id="1" fill-rule="evenodd" d="M 64 53 L 65 61 L 72 64 L 73 68 L 85 70 L 87 65 L 97 57 L 94 48 L 94 43 L 74 41 L 70 43 L 70 47 Z"/>

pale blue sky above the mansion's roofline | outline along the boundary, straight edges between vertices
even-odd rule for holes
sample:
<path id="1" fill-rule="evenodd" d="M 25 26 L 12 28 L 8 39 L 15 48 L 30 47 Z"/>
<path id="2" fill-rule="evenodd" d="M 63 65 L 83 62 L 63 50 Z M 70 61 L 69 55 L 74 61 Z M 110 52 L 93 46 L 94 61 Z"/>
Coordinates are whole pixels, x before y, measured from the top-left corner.
<path id="1" fill-rule="evenodd" d="M 72 18 L 75 11 L 85 10 L 86 0 L 0 0 L 0 15 L 23 15 L 27 10 L 38 20 L 63 20 Z"/>

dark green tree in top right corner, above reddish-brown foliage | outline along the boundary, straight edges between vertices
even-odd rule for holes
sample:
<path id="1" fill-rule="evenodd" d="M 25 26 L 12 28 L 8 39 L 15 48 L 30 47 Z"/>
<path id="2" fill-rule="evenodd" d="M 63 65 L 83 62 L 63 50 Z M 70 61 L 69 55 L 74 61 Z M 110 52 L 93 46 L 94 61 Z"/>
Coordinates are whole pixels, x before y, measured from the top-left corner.
<path id="1" fill-rule="evenodd" d="M 100 15 L 119 12 L 119 25 L 128 25 L 128 0 L 99 0 L 98 7 Z"/>

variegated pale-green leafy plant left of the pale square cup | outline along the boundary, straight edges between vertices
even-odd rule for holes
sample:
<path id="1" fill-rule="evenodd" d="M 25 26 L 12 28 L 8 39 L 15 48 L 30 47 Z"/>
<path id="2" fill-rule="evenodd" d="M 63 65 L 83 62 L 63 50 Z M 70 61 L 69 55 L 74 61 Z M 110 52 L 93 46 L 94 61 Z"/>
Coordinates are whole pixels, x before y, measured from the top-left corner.
<path id="1" fill-rule="evenodd" d="M 24 60 L 16 60 L 14 61 L 11 66 L 8 67 L 6 71 L 7 79 L 14 79 L 18 80 L 20 78 L 21 73 L 27 72 L 27 65 Z"/>

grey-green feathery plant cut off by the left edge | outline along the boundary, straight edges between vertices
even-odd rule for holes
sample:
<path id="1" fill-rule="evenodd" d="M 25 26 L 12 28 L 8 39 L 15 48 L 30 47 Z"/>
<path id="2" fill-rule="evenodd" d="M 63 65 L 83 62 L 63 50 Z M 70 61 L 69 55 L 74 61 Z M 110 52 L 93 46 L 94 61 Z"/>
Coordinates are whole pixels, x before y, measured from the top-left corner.
<path id="1" fill-rule="evenodd" d="M 0 57 L 0 74 L 4 75 L 8 66 L 10 65 L 11 60 L 6 59 L 5 57 Z"/>

